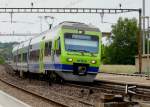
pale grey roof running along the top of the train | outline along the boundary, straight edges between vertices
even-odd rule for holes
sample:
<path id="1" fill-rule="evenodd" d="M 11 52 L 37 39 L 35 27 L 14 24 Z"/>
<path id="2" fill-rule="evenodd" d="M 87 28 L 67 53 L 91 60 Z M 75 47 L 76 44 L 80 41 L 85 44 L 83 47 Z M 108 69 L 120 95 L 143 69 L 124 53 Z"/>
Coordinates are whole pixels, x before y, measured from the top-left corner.
<path id="1" fill-rule="evenodd" d="M 45 32 L 42 32 L 42 33 L 38 34 L 35 37 L 30 38 L 27 41 L 21 42 L 20 44 L 18 44 L 17 46 L 15 46 L 13 48 L 13 52 L 18 50 L 18 49 L 21 49 L 23 47 L 27 47 L 29 45 L 30 41 L 31 41 L 30 44 L 33 45 L 33 44 L 38 43 L 42 39 L 44 41 L 51 40 L 52 38 L 54 38 L 54 35 L 59 30 L 59 28 L 80 29 L 80 30 L 100 32 L 100 30 L 98 28 L 96 28 L 95 26 L 93 26 L 93 25 L 87 25 L 85 23 L 80 23 L 80 22 L 64 21 L 62 23 L 59 23 L 57 26 L 55 26 L 51 30 L 47 30 Z"/>

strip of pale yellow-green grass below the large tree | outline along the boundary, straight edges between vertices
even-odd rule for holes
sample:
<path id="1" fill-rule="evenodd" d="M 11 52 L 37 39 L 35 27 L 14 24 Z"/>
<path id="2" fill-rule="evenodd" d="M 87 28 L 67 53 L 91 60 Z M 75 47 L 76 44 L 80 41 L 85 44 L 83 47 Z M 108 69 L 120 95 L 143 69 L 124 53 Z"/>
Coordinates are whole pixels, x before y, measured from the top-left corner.
<path id="1" fill-rule="evenodd" d="M 128 73 L 133 74 L 136 72 L 134 65 L 101 65 L 102 72 L 108 73 Z"/>

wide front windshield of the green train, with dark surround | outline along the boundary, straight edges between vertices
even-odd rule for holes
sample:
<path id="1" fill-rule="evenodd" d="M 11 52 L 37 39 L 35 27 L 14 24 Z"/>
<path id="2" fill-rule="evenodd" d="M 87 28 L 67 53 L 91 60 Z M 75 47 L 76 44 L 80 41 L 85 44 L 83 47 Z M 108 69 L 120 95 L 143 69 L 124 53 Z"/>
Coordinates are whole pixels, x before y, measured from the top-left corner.
<path id="1" fill-rule="evenodd" d="M 65 50 L 98 53 L 99 37 L 95 35 L 65 34 Z"/>

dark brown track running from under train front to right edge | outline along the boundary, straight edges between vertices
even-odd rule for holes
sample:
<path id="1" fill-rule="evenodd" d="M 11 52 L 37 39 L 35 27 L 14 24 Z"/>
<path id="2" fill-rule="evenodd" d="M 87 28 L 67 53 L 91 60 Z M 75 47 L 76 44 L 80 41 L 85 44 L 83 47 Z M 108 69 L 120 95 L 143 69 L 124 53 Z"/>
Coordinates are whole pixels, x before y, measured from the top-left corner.
<path id="1" fill-rule="evenodd" d="M 120 94 L 124 97 L 132 97 L 139 99 L 150 99 L 150 87 L 144 85 L 126 84 L 126 83 L 115 83 L 109 81 L 96 80 L 93 84 L 78 84 L 78 83 L 67 83 L 67 85 L 82 87 L 83 89 L 101 90 L 104 93 Z"/>

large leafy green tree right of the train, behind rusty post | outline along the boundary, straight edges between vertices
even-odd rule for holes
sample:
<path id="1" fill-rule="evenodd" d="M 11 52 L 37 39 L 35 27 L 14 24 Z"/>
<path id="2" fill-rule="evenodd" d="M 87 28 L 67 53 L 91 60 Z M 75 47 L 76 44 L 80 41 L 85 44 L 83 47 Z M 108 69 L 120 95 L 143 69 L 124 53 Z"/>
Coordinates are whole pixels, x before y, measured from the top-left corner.
<path id="1" fill-rule="evenodd" d="M 105 46 L 105 60 L 107 64 L 134 64 L 137 55 L 137 20 L 119 18 L 112 26 L 111 44 Z"/>

